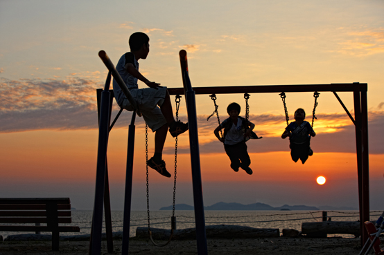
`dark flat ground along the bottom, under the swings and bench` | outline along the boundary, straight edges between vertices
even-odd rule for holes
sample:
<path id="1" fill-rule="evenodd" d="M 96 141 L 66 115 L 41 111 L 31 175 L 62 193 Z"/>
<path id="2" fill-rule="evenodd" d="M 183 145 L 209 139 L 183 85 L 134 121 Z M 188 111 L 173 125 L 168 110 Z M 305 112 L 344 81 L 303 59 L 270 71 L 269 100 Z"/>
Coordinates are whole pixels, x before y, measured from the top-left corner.
<path id="1" fill-rule="evenodd" d="M 381 237 L 383 243 L 383 237 Z M 160 243 L 160 242 L 159 242 Z M 250 239 L 208 239 L 208 254 L 358 254 L 360 238 L 250 238 Z M 382 247 L 383 249 L 383 247 Z M 61 241 L 60 251 L 51 251 L 48 241 L 5 241 L 0 242 L 0 254 L 88 254 L 89 241 Z M 114 240 L 114 252 L 107 252 L 106 241 L 102 242 L 101 254 L 121 254 L 121 240 Z M 195 240 L 174 240 L 165 247 L 156 247 L 148 240 L 132 238 L 129 254 L 198 254 Z"/>

